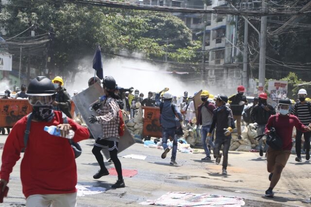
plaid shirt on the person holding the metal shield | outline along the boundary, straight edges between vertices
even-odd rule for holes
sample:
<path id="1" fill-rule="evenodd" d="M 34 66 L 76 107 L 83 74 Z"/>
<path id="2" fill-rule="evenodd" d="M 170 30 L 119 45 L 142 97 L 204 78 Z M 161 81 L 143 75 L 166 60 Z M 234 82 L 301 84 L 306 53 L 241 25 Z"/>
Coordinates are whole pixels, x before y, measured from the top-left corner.
<path id="1" fill-rule="evenodd" d="M 119 105 L 117 101 L 111 97 L 104 101 L 103 107 L 97 109 L 98 122 L 103 126 L 103 138 L 116 137 L 119 138 Z"/>

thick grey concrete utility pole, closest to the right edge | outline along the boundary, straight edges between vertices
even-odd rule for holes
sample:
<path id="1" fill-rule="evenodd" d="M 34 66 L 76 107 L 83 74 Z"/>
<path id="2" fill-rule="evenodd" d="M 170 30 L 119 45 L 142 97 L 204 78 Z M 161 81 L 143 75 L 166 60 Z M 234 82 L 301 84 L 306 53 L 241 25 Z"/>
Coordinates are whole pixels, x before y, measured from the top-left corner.
<path id="1" fill-rule="evenodd" d="M 267 4 L 262 0 L 262 11 L 266 11 Z M 267 42 L 267 17 L 261 17 L 260 23 L 260 51 L 259 51 L 259 87 L 258 90 L 264 91 L 266 76 L 266 42 Z"/>

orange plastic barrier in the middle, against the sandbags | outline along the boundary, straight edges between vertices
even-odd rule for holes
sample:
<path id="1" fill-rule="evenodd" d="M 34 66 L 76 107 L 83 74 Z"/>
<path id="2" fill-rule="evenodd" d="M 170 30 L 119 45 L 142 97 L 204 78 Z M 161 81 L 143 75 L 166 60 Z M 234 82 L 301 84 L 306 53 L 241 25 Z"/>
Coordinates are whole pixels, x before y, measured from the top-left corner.
<path id="1" fill-rule="evenodd" d="M 160 126 L 160 108 L 150 106 L 143 106 L 142 108 L 144 109 L 142 135 L 161 138 L 162 127 Z"/>

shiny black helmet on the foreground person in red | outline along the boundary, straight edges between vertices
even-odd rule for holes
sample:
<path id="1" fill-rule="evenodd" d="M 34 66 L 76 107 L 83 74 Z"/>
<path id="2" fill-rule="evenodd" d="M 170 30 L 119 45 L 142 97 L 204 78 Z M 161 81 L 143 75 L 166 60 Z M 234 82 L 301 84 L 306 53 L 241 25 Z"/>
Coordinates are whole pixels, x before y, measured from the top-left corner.
<path id="1" fill-rule="evenodd" d="M 52 81 L 45 76 L 37 76 L 31 80 L 26 91 L 30 96 L 52 96 L 55 93 Z"/>

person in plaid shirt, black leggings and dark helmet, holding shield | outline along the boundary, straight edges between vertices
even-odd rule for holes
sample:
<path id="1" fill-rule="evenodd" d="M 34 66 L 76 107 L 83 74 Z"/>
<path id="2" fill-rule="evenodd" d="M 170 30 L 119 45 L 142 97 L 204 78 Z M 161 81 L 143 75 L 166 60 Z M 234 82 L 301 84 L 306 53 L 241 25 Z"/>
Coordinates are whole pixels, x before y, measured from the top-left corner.
<path id="1" fill-rule="evenodd" d="M 118 173 L 117 182 L 112 185 L 112 188 L 124 188 L 124 180 L 122 176 L 121 162 L 118 158 L 118 146 L 119 146 L 119 104 L 117 100 L 119 96 L 115 94 L 116 81 L 112 76 L 106 76 L 103 80 L 103 88 L 106 98 L 103 102 L 94 104 L 92 108 L 96 110 L 99 116 L 93 116 L 88 118 L 90 123 L 98 122 L 103 127 L 103 137 L 96 139 L 94 147 L 92 149 L 93 155 L 100 166 L 100 170 L 94 174 L 94 179 L 99 179 L 102 176 L 108 175 L 109 172 L 104 165 L 104 157 L 101 153 L 102 149 L 108 149 L 110 158 L 115 165 Z"/>

